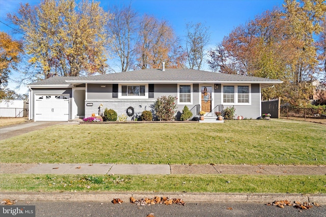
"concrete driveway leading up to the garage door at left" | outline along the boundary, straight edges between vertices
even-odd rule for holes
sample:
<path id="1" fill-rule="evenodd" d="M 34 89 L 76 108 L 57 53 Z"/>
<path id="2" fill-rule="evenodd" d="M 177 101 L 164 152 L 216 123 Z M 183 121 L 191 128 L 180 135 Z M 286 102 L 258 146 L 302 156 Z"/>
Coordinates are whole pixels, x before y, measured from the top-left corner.
<path id="1" fill-rule="evenodd" d="M 43 128 L 47 128 L 53 125 L 67 125 L 73 124 L 76 125 L 78 122 L 67 122 L 67 121 L 31 121 L 21 123 L 20 125 L 9 126 L 0 128 L 0 140 L 8 139 L 14 136 L 18 136 L 24 133 L 28 133 L 31 131 L 41 130 Z"/>

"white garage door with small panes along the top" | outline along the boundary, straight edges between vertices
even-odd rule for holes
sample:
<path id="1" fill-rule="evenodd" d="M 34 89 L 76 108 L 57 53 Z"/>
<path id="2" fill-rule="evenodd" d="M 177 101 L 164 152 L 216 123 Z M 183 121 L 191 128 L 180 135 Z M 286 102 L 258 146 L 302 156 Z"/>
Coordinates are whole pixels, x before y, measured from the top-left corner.
<path id="1" fill-rule="evenodd" d="M 69 95 L 36 95 L 35 121 L 67 121 Z"/>

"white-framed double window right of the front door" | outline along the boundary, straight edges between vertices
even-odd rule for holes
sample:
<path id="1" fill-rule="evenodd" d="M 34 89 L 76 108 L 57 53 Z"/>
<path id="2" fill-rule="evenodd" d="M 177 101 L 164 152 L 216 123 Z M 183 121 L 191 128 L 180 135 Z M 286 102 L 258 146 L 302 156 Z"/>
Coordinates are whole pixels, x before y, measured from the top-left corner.
<path id="1" fill-rule="evenodd" d="M 223 103 L 250 104 L 251 86 L 223 86 Z"/>

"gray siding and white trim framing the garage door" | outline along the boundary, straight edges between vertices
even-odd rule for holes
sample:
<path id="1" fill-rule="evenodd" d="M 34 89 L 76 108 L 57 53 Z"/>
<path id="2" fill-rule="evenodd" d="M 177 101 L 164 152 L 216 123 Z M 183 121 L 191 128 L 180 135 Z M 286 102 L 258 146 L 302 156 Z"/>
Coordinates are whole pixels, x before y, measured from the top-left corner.
<path id="1" fill-rule="evenodd" d="M 35 95 L 62 95 L 69 94 L 69 119 L 72 119 L 72 90 L 71 88 L 33 88 L 32 114 L 34 119 Z"/>

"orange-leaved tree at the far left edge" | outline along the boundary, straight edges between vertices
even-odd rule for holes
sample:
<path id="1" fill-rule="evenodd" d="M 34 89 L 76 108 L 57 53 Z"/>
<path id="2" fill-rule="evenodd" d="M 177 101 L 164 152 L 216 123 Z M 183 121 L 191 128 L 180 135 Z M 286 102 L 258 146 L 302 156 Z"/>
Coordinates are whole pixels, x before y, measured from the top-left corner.
<path id="1" fill-rule="evenodd" d="M 12 40 L 4 32 L 0 32 L 0 100 L 5 99 L 9 92 L 5 89 L 8 85 L 11 70 L 16 70 L 23 52 L 22 43 Z"/>

